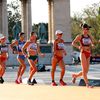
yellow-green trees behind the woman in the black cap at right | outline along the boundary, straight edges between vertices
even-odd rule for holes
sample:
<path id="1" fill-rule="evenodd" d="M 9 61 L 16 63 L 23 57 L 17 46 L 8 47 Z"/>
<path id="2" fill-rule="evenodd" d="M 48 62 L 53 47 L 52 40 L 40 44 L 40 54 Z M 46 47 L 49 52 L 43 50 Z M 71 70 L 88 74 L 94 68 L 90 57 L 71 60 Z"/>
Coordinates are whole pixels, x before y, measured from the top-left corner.
<path id="1" fill-rule="evenodd" d="M 92 27 L 90 32 L 94 39 L 96 41 L 100 40 L 100 3 L 88 6 L 82 14 L 75 14 L 71 18 L 72 39 L 81 33 L 80 24 L 82 22 L 88 23 Z M 92 51 L 93 54 L 100 54 L 100 43 L 96 43 Z"/>

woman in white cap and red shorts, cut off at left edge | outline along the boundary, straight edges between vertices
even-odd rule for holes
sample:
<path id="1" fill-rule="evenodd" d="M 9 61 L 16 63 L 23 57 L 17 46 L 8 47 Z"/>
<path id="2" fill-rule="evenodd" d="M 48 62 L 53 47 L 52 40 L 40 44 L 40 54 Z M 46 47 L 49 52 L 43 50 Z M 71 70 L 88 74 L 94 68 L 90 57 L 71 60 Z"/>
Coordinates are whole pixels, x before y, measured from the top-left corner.
<path id="1" fill-rule="evenodd" d="M 6 61 L 8 58 L 8 46 L 5 43 L 6 37 L 0 34 L 0 83 L 4 82 L 3 75 L 5 73 Z"/>

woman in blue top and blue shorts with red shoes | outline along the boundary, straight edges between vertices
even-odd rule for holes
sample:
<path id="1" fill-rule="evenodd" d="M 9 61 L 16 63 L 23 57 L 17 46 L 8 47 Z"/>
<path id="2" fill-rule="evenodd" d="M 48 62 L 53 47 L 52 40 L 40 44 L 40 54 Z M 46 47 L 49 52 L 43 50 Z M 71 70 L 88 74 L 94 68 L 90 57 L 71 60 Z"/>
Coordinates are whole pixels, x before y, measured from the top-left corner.
<path id="1" fill-rule="evenodd" d="M 13 51 L 13 47 L 17 46 L 17 60 L 20 63 L 17 78 L 15 80 L 16 84 L 22 83 L 22 75 L 25 72 L 26 65 L 25 65 L 25 56 L 22 53 L 22 47 L 25 44 L 25 33 L 21 32 L 19 33 L 19 40 L 15 40 L 11 45 L 11 49 Z"/>

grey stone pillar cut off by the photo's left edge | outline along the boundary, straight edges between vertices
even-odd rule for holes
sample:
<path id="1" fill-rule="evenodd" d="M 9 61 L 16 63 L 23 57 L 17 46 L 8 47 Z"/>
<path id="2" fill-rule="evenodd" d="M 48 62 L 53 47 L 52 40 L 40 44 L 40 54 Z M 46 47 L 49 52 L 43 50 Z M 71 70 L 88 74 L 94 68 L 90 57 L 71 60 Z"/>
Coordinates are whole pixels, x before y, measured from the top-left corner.
<path id="1" fill-rule="evenodd" d="M 8 38 L 7 0 L 0 0 L 0 33 Z"/>

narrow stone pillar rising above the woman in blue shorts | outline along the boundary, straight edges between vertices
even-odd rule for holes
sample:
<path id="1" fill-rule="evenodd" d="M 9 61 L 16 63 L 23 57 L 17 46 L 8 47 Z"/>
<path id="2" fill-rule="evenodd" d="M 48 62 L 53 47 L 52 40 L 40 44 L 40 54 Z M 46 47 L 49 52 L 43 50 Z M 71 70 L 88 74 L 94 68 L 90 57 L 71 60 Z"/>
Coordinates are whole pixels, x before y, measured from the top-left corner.
<path id="1" fill-rule="evenodd" d="M 22 31 L 26 33 L 28 39 L 29 33 L 32 31 L 31 0 L 21 0 L 21 10 Z"/>

